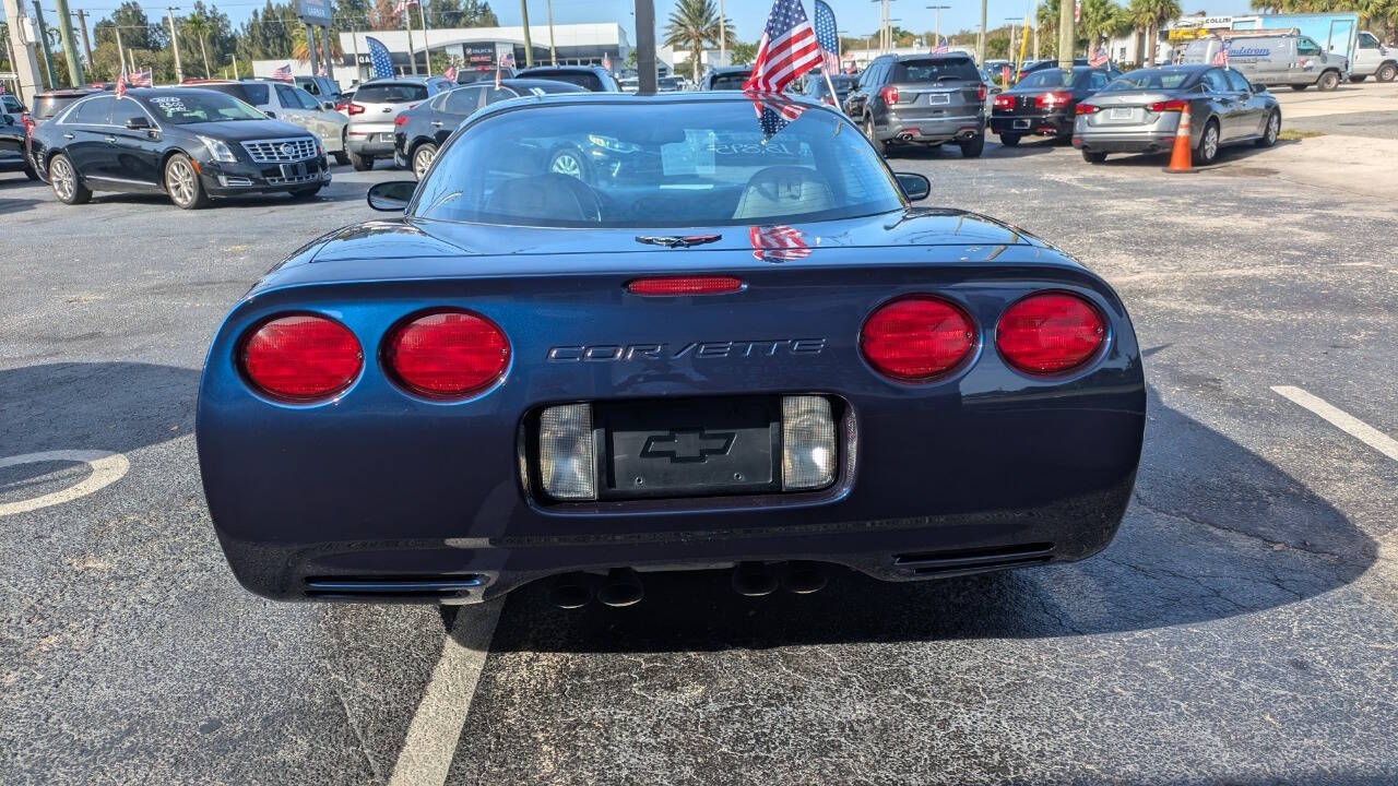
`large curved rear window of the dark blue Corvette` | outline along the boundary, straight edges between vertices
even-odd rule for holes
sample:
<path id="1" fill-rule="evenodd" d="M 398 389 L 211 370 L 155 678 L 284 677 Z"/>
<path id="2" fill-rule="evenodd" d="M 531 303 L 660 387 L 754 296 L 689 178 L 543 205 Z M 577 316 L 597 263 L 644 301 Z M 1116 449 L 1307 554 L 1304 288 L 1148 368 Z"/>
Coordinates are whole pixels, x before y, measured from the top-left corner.
<path id="1" fill-rule="evenodd" d="M 657 122 L 657 117 L 663 117 Z M 769 115 L 768 127 L 780 124 Z M 899 210 L 849 120 L 804 110 L 766 137 L 749 101 L 530 106 L 467 126 L 411 215 L 512 227 L 788 224 Z"/>

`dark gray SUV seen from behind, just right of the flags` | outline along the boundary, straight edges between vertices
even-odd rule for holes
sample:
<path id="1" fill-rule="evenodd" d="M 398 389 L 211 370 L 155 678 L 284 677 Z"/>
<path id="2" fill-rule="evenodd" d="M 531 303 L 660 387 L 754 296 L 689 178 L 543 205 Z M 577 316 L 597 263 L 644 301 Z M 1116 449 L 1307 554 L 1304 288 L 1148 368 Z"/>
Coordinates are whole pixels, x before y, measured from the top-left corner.
<path id="1" fill-rule="evenodd" d="M 884 55 L 860 74 L 844 112 L 888 155 L 893 144 L 986 147 L 988 90 L 966 55 Z"/>

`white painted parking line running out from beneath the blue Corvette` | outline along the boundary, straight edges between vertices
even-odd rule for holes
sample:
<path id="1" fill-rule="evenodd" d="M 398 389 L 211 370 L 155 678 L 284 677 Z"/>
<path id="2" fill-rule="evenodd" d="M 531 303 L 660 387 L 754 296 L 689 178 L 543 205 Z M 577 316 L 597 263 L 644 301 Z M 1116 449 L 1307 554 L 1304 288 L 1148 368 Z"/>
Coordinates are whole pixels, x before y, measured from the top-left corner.
<path id="1" fill-rule="evenodd" d="M 503 604 L 495 600 L 463 606 L 456 615 L 428 689 L 408 724 L 389 786 L 446 783 Z"/>

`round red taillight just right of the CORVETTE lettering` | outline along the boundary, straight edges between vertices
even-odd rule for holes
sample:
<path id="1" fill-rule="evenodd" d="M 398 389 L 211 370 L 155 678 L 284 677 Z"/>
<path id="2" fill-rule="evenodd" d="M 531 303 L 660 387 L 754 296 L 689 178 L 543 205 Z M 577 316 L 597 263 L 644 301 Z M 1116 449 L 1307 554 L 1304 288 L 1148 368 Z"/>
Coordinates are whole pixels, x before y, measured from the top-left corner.
<path id="1" fill-rule="evenodd" d="M 960 308 L 928 295 L 878 308 L 860 330 L 860 351 L 881 373 L 923 380 L 945 373 L 970 355 L 976 331 Z"/>

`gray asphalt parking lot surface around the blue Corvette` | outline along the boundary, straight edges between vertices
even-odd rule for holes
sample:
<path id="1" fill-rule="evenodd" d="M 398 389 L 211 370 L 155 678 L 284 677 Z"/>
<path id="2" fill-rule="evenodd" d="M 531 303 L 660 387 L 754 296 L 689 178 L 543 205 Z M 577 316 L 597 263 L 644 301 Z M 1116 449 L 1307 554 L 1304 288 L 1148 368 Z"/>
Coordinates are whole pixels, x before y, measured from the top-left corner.
<path id="1" fill-rule="evenodd" d="M 1398 127 L 1398 85 L 1336 95 L 1282 97 L 1325 136 L 1192 175 L 994 137 L 892 161 L 1131 309 L 1151 418 L 1107 551 L 575 613 L 277 604 L 218 550 L 208 341 L 401 172 L 204 211 L 0 172 L 0 783 L 1398 780 L 1398 141 L 1345 126 Z"/>

